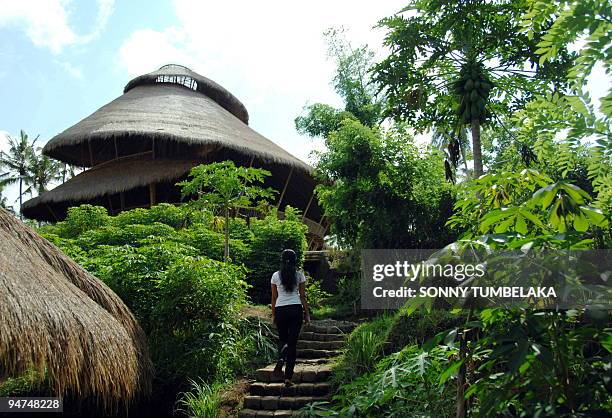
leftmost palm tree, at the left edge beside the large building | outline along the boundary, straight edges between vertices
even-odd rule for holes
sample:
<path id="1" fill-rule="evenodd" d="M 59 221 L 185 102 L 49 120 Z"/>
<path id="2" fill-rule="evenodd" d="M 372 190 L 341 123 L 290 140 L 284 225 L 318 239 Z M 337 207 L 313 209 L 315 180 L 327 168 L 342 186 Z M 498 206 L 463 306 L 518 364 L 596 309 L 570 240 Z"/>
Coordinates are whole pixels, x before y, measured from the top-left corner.
<path id="1" fill-rule="evenodd" d="M 28 165 L 32 154 L 34 154 L 34 144 L 38 140 L 38 137 L 34 141 L 30 142 L 28 135 L 21 130 L 19 133 L 19 139 L 8 137 L 9 151 L 0 152 L 0 168 L 6 170 L 0 172 L 0 182 L 4 185 L 19 184 L 19 218 L 23 219 L 21 214 L 21 205 L 23 204 L 23 195 L 30 193 L 30 178 Z M 24 186 L 27 186 L 24 190 Z"/>

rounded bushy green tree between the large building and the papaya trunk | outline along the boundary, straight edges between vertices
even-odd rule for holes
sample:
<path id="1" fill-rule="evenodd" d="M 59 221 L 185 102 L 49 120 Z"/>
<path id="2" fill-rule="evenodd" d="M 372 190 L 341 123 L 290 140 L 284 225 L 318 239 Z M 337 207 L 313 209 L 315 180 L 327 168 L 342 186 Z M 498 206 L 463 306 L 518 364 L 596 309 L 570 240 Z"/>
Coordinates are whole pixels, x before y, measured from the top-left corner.
<path id="1" fill-rule="evenodd" d="M 325 144 L 317 197 L 340 244 L 436 248 L 452 241 L 445 222 L 454 191 L 437 151 L 419 150 L 401 128 L 381 132 L 350 119 Z"/>

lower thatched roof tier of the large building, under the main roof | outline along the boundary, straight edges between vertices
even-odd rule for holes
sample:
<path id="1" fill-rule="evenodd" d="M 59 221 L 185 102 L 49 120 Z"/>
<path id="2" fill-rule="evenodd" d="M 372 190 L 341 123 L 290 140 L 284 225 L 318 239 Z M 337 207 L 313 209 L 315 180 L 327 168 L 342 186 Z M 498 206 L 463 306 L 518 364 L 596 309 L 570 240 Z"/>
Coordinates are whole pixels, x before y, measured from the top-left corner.
<path id="1" fill-rule="evenodd" d="M 152 183 L 177 180 L 198 164 L 201 162 L 196 160 L 138 157 L 111 161 L 83 171 L 66 183 L 24 202 L 23 213 L 28 216 L 30 210 L 45 203 L 85 201 Z"/>

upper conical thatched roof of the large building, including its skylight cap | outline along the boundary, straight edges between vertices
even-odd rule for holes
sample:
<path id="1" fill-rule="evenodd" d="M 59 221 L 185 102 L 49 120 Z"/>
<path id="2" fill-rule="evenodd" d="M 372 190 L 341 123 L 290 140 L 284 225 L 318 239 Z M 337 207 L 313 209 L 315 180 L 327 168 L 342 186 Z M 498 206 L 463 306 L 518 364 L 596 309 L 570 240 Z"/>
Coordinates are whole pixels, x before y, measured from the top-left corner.
<path id="1" fill-rule="evenodd" d="M 43 152 L 90 167 L 151 149 L 159 157 L 185 158 L 197 147 L 218 146 L 311 172 L 247 121 L 246 109 L 227 90 L 184 67 L 165 66 L 130 81 L 122 96 L 52 138 Z"/>

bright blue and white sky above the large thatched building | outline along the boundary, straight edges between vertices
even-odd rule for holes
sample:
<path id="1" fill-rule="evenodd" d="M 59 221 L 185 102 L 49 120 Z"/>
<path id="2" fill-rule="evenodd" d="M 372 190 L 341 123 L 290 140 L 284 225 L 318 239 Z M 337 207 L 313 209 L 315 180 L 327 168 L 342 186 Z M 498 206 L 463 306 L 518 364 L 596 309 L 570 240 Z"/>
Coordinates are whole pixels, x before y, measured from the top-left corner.
<path id="1" fill-rule="evenodd" d="M 0 150 L 23 129 L 37 145 L 168 63 L 231 91 L 250 126 L 309 161 L 320 142 L 300 136 L 305 105 L 339 105 L 323 32 L 344 27 L 381 49 L 379 19 L 405 5 L 310 0 L 0 0 Z M 17 198 L 8 190 L 10 202 Z M 10 203 L 9 202 L 9 203 Z"/>

